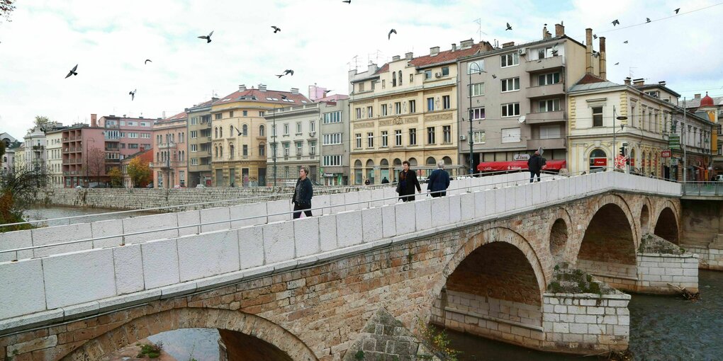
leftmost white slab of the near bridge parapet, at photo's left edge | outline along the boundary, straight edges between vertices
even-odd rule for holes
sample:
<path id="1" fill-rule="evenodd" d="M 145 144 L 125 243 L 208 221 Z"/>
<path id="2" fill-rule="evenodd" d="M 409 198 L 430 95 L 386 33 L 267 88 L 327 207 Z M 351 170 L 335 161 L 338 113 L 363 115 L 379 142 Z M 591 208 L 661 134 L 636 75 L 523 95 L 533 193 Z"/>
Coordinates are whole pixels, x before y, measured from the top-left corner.
<path id="1" fill-rule="evenodd" d="M 0 263 L 0 320 L 46 309 L 39 259 Z"/>

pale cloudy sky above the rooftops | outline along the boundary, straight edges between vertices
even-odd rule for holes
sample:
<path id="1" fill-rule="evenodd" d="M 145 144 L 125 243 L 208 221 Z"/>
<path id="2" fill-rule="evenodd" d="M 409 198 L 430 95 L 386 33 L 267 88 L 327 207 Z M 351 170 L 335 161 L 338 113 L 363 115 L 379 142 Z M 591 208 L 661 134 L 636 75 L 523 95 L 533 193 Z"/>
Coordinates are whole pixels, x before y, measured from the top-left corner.
<path id="1" fill-rule="evenodd" d="M 22 138 L 37 115 L 66 124 L 90 113 L 172 116 L 239 84 L 346 94 L 348 70 L 369 61 L 469 38 L 538 40 L 545 23 L 554 32 L 561 20 L 581 43 L 586 27 L 607 37 L 614 82 L 630 75 L 688 97 L 723 95 L 718 1 L 19 0 L 12 22 L 0 19 L 0 132 Z M 388 40 L 391 28 L 398 34 Z M 211 30 L 212 43 L 197 38 Z M 64 79 L 75 64 L 78 76 Z M 274 76 L 284 69 L 294 76 Z"/>

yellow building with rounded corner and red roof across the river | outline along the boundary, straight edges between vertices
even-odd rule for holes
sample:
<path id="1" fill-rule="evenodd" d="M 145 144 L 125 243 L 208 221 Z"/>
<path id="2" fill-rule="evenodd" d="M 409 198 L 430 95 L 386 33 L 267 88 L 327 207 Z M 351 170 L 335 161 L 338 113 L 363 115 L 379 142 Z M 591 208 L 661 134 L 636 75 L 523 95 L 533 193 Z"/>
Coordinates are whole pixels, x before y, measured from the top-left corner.
<path id="1" fill-rule="evenodd" d="M 290 92 L 258 89 L 239 90 L 211 105 L 211 168 L 213 186 L 266 186 L 266 136 L 270 126 L 265 113 L 274 108 L 312 103 L 291 88 Z"/>

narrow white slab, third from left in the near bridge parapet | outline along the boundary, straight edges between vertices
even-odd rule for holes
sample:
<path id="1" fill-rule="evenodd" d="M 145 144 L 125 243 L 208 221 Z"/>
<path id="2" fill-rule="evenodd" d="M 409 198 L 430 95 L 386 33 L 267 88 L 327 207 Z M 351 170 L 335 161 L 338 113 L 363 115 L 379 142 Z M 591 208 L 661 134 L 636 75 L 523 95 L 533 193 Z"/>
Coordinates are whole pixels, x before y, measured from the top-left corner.
<path id="1" fill-rule="evenodd" d="M 143 257 L 140 245 L 113 248 L 113 264 L 116 269 L 116 295 L 143 290 Z"/>

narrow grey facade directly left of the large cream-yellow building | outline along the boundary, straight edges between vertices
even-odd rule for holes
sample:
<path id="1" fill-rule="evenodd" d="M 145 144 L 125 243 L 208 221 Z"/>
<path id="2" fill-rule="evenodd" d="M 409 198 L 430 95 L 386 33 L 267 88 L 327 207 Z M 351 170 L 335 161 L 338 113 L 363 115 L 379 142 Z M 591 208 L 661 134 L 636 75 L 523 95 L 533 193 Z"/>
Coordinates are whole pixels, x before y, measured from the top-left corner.
<path id="1" fill-rule="evenodd" d="M 337 98 L 320 103 L 320 183 L 349 184 L 349 101 Z"/>

